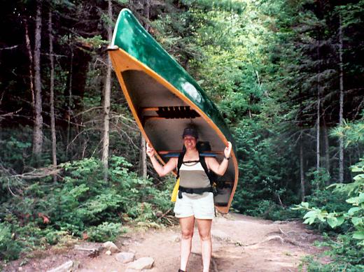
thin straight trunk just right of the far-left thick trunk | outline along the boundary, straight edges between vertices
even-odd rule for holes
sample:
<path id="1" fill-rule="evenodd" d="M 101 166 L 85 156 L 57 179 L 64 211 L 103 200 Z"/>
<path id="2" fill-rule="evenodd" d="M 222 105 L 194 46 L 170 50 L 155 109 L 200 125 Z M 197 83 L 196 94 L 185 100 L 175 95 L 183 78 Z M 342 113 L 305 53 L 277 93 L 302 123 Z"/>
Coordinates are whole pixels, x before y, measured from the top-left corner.
<path id="1" fill-rule="evenodd" d="M 52 134 L 52 162 L 53 167 L 57 167 L 57 140 L 55 138 L 55 61 L 53 57 L 53 35 L 52 35 L 52 10 L 49 10 L 48 21 L 49 32 L 49 60 L 50 60 L 50 132 Z M 53 181 L 57 181 L 57 176 L 53 176 Z"/>

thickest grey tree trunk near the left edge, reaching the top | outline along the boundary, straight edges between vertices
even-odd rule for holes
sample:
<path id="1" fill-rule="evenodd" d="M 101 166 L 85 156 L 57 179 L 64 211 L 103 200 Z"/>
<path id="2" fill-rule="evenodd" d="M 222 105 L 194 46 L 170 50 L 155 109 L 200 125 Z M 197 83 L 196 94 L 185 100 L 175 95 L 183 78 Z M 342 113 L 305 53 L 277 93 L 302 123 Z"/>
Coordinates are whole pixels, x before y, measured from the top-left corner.
<path id="1" fill-rule="evenodd" d="M 41 1 L 36 1 L 36 31 L 34 43 L 34 130 L 33 130 L 33 156 L 38 161 L 43 145 L 43 117 L 41 97 Z"/>

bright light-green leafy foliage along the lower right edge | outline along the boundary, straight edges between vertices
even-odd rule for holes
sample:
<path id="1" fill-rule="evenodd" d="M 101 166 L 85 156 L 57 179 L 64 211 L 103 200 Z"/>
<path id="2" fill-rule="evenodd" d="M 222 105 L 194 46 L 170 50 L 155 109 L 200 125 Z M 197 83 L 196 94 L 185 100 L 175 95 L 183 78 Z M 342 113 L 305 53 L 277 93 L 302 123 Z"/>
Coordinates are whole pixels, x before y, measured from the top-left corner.
<path id="1" fill-rule="evenodd" d="M 363 141 L 358 134 L 362 134 L 363 120 L 354 124 L 346 123 L 342 129 L 335 129 L 334 134 L 342 136 L 346 146 Z M 304 223 L 314 224 L 314 222 L 325 222 L 332 229 L 346 224 L 344 234 L 337 236 L 337 241 L 328 241 L 325 246 L 330 247 L 328 254 L 333 262 L 328 265 L 321 265 L 314 262 L 309 265 L 309 271 L 321 269 L 320 271 L 332 271 L 330 269 L 345 271 L 363 270 L 364 261 L 364 158 L 360 162 L 351 166 L 351 171 L 356 173 L 353 182 L 332 184 L 328 189 L 333 189 L 332 194 L 328 195 L 328 190 L 323 194 L 318 194 L 321 190 L 316 190 L 316 195 L 311 196 L 312 207 L 308 202 L 302 202 L 294 209 L 306 210 Z M 344 196 L 344 201 L 333 199 L 332 196 Z M 313 203 L 312 203 L 313 202 Z M 331 202 L 331 205 L 330 205 Z M 344 208 L 345 206 L 348 206 Z M 316 208 L 318 207 L 318 208 Z M 338 209 L 338 207 L 340 207 Z"/>

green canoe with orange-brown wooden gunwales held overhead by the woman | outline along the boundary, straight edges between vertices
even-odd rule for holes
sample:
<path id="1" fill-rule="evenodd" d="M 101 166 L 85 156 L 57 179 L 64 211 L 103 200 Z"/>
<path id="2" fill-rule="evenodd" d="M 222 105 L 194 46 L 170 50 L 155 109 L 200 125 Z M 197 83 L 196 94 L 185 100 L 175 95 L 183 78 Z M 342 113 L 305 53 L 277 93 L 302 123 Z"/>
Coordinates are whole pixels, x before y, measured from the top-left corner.
<path id="1" fill-rule="evenodd" d="M 128 9 L 120 12 L 109 55 L 127 103 L 146 141 L 166 163 L 181 150 L 182 132 L 194 124 L 199 141 L 209 142 L 207 155 L 223 159 L 228 141 L 232 158 L 216 179 L 216 208 L 228 213 L 238 180 L 235 142 L 215 104 L 196 81 L 141 26 Z"/>

